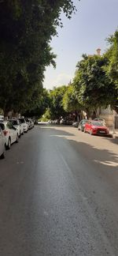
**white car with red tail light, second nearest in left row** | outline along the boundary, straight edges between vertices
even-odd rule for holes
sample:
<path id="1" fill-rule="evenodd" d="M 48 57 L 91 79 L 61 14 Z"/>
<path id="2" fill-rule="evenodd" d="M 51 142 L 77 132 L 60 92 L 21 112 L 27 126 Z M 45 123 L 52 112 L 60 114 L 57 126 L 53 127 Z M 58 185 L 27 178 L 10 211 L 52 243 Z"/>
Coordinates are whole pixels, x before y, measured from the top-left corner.
<path id="1" fill-rule="evenodd" d="M 9 121 L 3 121 L 0 123 L 3 133 L 6 137 L 6 149 L 10 149 L 13 142 L 18 142 L 18 131 Z"/>

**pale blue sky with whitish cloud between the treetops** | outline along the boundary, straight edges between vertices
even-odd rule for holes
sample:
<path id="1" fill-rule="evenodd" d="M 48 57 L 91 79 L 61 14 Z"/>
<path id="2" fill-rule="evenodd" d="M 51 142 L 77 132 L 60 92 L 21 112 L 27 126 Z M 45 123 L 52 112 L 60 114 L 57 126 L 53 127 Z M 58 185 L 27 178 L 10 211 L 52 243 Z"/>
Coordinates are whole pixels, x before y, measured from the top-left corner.
<path id="1" fill-rule="evenodd" d="M 58 37 L 53 37 L 51 47 L 57 55 L 57 67 L 48 66 L 43 86 L 68 85 L 75 75 L 76 64 L 83 53 L 93 55 L 98 48 L 101 54 L 107 49 L 106 38 L 118 28 L 118 0 L 73 1 L 77 13 L 68 20 L 61 15 L 63 28 L 57 28 Z"/>

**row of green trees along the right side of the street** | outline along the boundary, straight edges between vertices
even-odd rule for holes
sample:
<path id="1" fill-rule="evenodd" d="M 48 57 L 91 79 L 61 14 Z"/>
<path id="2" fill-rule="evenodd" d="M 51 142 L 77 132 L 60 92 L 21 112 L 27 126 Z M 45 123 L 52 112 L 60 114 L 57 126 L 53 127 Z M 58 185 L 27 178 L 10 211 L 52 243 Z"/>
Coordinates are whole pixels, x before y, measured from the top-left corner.
<path id="1" fill-rule="evenodd" d="M 73 81 L 49 92 L 50 119 L 75 111 L 85 111 L 90 116 L 98 107 L 109 105 L 118 113 L 118 31 L 107 41 L 109 47 L 104 55 L 84 54 L 76 65 Z"/>

